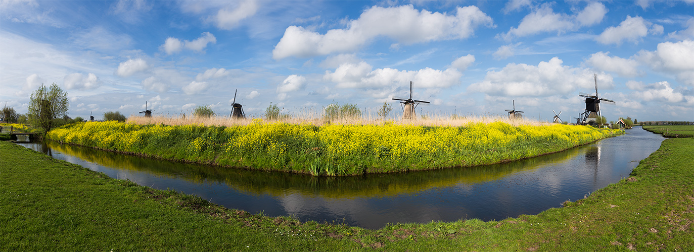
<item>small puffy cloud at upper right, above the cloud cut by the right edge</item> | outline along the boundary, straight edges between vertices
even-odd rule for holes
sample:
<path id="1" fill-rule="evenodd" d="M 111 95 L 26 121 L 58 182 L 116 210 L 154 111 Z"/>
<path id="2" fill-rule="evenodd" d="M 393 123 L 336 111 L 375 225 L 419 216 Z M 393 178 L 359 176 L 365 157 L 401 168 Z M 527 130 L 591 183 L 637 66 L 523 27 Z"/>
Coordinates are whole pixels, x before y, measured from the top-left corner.
<path id="1" fill-rule="evenodd" d="M 642 17 L 627 15 L 627 19 L 622 21 L 619 26 L 606 28 L 595 38 L 595 41 L 600 44 L 620 45 L 626 40 L 638 44 L 638 41 L 649 33 L 654 35 L 661 34 L 663 33 L 663 26 L 652 24 L 649 21 L 645 21 Z"/>

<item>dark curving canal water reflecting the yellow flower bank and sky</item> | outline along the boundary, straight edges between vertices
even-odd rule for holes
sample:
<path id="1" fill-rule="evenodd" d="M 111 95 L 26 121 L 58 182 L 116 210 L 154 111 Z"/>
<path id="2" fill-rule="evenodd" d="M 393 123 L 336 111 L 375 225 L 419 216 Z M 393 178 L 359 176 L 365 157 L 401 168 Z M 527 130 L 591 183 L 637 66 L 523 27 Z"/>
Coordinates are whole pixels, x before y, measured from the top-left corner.
<path id="1" fill-rule="evenodd" d="M 110 177 L 198 195 L 227 208 L 380 228 L 398 222 L 534 215 L 567 199 L 582 199 L 628 177 L 664 139 L 641 127 L 627 132 L 500 165 L 337 178 L 174 163 L 55 142 L 19 144 Z"/>

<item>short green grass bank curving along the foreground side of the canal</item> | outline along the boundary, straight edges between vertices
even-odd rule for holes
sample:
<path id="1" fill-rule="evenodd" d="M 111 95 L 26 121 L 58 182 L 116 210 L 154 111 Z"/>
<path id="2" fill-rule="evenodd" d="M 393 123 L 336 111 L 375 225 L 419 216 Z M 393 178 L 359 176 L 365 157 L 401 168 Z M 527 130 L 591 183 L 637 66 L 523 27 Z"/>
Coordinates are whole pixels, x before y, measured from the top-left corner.
<path id="1" fill-rule="evenodd" d="M 0 142 L 0 251 L 692 251 L 694 138 L 539 215 L 380 230 L 249 215 Z"/>

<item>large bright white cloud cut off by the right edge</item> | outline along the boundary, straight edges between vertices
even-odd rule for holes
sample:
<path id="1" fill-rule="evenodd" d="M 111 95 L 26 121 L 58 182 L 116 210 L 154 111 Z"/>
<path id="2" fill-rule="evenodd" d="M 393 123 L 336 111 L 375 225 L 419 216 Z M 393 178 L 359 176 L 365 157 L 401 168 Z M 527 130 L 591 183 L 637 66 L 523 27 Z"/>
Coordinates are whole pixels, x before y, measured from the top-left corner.
<path id="1" fill-rule="evenodd" d="M 641 51 L 636 56 L 655 71 L 675 74 L 677 80 L 694 86 L 694 41 L 663 42 L 656 51 Z"/>

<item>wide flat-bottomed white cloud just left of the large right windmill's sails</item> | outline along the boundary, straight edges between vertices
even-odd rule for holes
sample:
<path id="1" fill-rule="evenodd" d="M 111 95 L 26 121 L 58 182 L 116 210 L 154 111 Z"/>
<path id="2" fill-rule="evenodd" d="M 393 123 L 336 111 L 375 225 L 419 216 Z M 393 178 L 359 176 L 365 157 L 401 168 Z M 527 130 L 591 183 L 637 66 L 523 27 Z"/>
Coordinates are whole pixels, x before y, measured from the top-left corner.
<path id="1" fill-rule="evenodd" d="M 507 64 L 500 71 L 488 71 L 482 82 L 468 86 L 468 91 L 490 96 L 553 96 L 568 95 L 576 89 L 595 88 L 593 71 L 564 66 L 558 57 L 537 66 Z M 610 75 L 598 74 L 600 89 L 613 87 Z"/>

